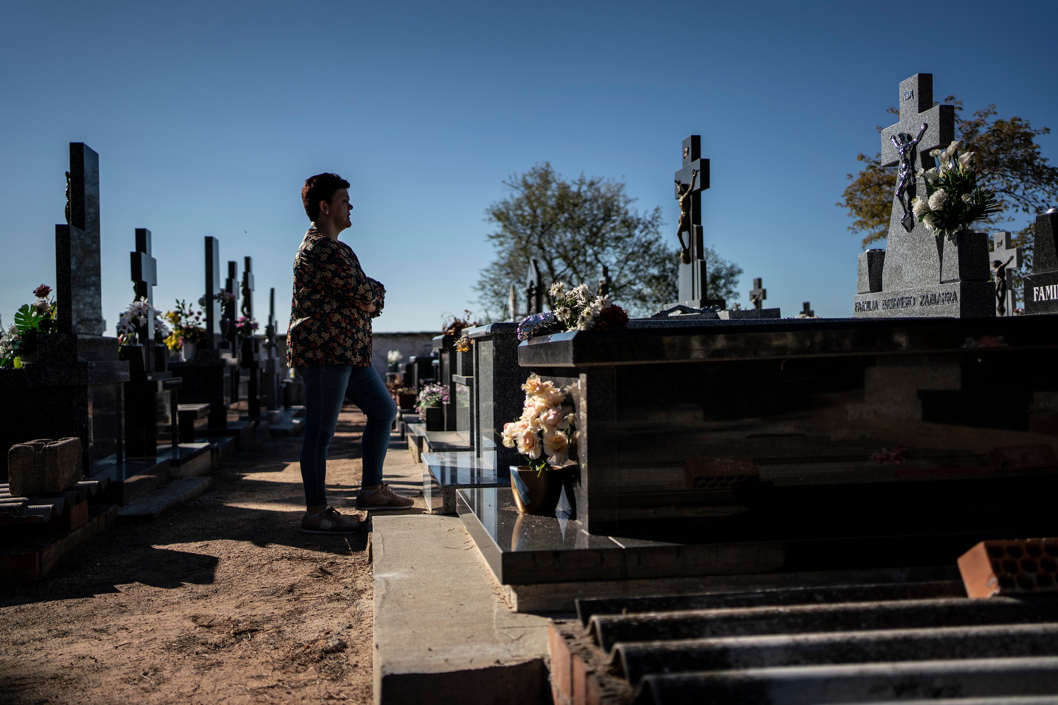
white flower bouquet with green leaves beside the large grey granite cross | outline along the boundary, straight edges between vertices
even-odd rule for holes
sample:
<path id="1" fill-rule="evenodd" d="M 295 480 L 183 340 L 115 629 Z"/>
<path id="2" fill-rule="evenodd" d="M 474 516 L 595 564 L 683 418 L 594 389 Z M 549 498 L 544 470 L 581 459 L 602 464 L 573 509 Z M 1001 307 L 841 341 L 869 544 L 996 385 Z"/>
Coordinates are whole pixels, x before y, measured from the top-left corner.
<path id="1" fill-rule="evenodd" d="M 978 186 L 977 152 L 963 151 L 961 144 L 930 152 L 936 166 L 915 174 L 926 182 L 926 197 L 911 201 L 912 212 L 927 229 L 948 237 L 1001 210 L 996 194 Z"/>

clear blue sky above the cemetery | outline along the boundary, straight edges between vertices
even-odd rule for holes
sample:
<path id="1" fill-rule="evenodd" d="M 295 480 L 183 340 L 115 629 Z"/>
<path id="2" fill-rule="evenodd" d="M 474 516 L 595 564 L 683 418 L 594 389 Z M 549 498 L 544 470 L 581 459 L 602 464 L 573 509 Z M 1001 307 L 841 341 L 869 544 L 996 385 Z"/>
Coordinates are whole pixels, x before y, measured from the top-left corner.
<path id="1" fill-rule="evenodd" d="M 676 222 L 680 141 L 703 135 L 707 243 L 768 304 L 849 315 L 859 237 L 835 207 L 878 151 L 897 84 L 1058 128 L 1050 2 L 5 2 L 0 5 L 0 314 L 54 284 L 69 142 L 99 152 L 104 311 L 202 293 L 202 237 L 254 258 L 281 324 L 305 178 L 352 182 L 343 236 L 388 290 L 376 330 L 475 309 L 486 207 L 536 162 L 623 178 Z M 1041 140 L 1058 160 L 1058 135 Z M 1020 226 L 1024 218 L 1013 226 Z M 675 242 L 675 236 L 673 235 Z"/>

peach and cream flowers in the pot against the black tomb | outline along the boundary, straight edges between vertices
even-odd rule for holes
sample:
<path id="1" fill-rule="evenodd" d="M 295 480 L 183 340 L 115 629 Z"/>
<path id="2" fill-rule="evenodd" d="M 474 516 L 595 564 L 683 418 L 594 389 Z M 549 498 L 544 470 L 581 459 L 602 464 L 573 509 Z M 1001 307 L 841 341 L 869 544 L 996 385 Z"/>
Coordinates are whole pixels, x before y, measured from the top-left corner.
<path id="1" fill-rule="evenodd" d="M 540 470 L 562 465 L 569 458 L 572 408 L 564 404 L 566 390 L 544 382 L 535 374 L 522 385 L 526 392 L 522 416 L 504 426 L 504 445 L 517 448 L 529 467 Z M 546 458 L 546 460 L 545 460 Z"/>

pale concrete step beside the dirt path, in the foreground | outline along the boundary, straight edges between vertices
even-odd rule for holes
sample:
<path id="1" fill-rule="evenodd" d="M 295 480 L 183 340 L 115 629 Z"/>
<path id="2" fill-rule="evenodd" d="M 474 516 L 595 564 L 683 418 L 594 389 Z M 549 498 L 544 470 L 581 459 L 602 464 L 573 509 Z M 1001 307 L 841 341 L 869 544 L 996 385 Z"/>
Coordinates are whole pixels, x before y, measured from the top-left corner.
<path id="1" fill-rule="evenodd" d="M 375 702 L 545 702 L 547 619 L 504 604 L 459 519 L 371 525 Z"/>

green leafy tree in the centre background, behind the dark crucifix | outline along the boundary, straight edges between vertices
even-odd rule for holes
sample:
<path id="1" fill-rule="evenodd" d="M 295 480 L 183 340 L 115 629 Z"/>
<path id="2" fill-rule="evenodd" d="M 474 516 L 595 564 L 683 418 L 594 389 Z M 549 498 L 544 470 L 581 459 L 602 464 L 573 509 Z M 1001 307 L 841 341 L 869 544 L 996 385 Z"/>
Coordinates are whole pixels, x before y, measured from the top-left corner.
<path id="1" fill-rule="evenodd" d="M 679 254 L 661 235 L 661 208 L 637 211 L 623 182 L 584 174 L 567 181 L 545 162 L 504 186 L 509 196 L 486 210 L 496 226 L 488 236 L 496 257 L 475 286 L 490 320 L 507 317 L 510 286 L 521 295 L 531 259 L 545 286 L 565 281 L 595 289 L 607 266 L 610 298 L 633 315 L 676 300 Z M 730 298 L 742 268 L 708 248 L 707 259 L 709 296 Z"/>

